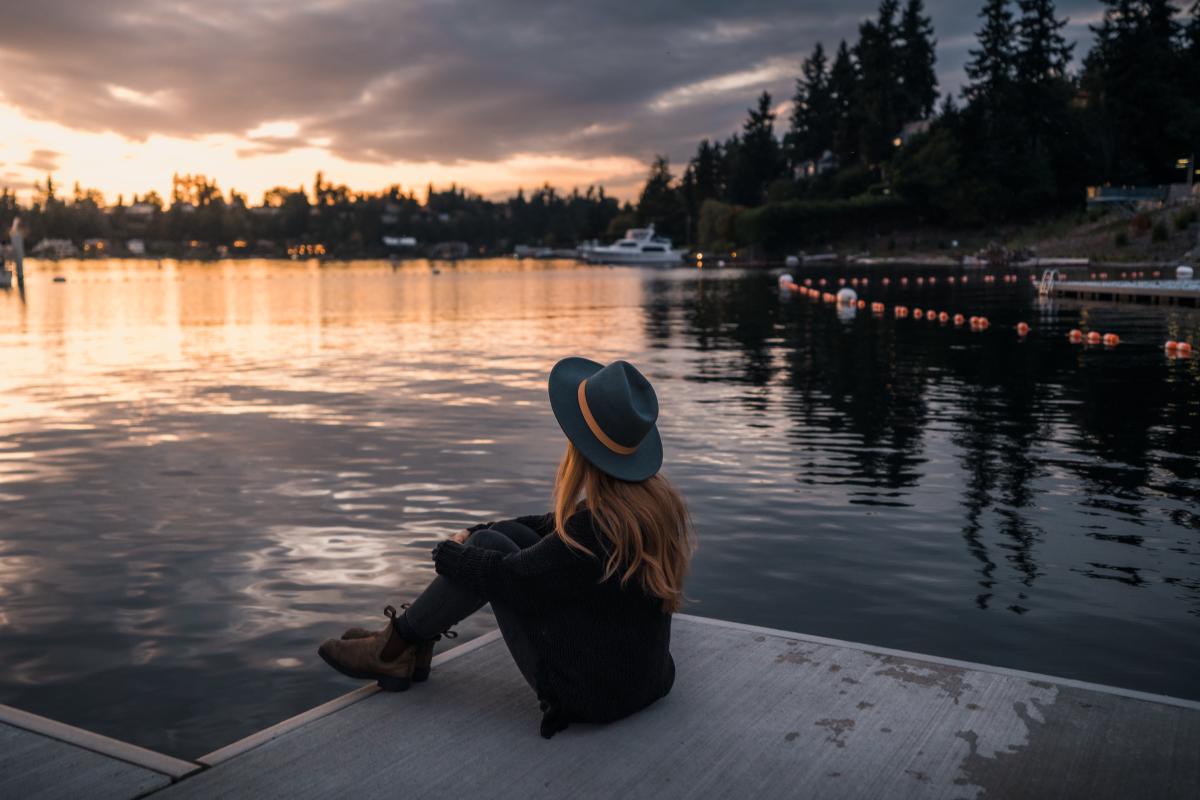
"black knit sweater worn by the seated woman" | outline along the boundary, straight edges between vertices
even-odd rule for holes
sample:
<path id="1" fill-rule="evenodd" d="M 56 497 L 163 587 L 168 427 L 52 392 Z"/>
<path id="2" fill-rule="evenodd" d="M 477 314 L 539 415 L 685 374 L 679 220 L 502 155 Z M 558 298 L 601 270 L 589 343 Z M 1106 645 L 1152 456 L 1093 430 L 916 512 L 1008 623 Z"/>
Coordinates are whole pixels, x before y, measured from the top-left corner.
<path id="1" fill-rule="evenodd" d="M 671 691 L 671 615 L 662 601 L 620 570 L 602 583 L 608 542 L 580 511 L 566 533 L 592 555 L 553 533 L 554 516 L 518 517 L 541 541 L 518 553 L 443 541 L 433 549 L 438 575 L 470 587 L 488 601 L 508 603 L 523 619 L 538 654 L 538 699 L 550 739 L 569 722 L 612 722 Z M 468 530 L 488 528 L 494 523 Z"/>

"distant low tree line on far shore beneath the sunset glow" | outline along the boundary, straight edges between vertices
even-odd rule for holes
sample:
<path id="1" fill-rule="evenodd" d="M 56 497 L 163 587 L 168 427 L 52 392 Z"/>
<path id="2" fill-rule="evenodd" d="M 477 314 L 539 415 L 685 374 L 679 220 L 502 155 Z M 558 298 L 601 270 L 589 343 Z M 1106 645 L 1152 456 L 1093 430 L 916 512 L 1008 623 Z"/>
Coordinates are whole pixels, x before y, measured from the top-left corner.
<path id="1" fill-rule="evenodd" d="M 101 239 L 110 242 L 108 252 L 139 239 L 158 254 L 282 254 L 298 243 L 320 243 L 331 255 L 380 255 L 394 252 L 384 245 L 385 236 L 412 236 L 420 247 L 463 242 L 472 252 L 494 253 L 524 242 L 574 247 L 605 237 L 629 223 L 629 204 L 624 217 L 622 211 L 617 198 L 599 186 L 563 193 L 547 185 L 488 200 L 457 186 L 431 185 L 419 199 L 400 186 L 356 192 L 322 173 L 311 191 L 271 188 L 258 205 L 238 191 L 223 192 L 204 175 L 175 175 L 168 200 L 148 192 L 108 205 L 97 190 L 77 184 L 64 193 L 47 178 L 36 182 L 24 205 L 13 191 L 0 190 L 0 236 L 19 216 L 31 243 L 67 239 L 78 246 Z"/>

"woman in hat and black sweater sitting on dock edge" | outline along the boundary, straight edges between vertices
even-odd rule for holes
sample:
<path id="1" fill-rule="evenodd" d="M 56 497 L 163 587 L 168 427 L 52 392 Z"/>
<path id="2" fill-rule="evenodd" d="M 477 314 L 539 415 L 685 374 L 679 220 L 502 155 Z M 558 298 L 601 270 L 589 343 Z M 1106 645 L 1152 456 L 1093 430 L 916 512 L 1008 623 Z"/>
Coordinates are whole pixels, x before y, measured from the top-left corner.
<path id="1" fill-rule="evenodd" d="M 570 357 L 550 373 L 550 402 L 568 438 L 554 510 L 439 542 L 439 577 L 402 613 L 388 606 L 382 631 L 350 628 L 322 644 L 331 667 L 403 691 L 428 678 L 439 633 L 491 602 L 547 739 L 671 691 L 671 614 L 696 545 L 683 498 L 658 474 L 654 389 L 625 361 Z"/>

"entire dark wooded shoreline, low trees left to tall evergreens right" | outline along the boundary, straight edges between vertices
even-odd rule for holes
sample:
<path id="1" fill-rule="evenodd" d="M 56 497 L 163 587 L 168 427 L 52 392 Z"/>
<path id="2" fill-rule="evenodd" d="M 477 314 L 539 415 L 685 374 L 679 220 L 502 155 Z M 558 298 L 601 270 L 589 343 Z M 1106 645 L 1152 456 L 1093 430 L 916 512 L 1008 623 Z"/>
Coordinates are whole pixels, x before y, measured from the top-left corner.
<path id="1" fill-rule="evenodd" d="M 1052 0 L 985 0 L 958 97 L 940 97 L 923 0 L 882 0 L 856 42 L 804 59 L 780 121 L 767 92 L 742 128 L 702 140 L 677 178 L 659 156 L 637 200 L 548 185 L 505 200 L 458 186 L 425 198 L 360 192 L 317 173 L 252 205 L 205 175 L 108 204 L 0 190 L 0 230 L 20 217 L 30 255 L 462 258 L 517 245 L 570 248 L 654 223 L 695 251 L 973 254 L 1156 261 L 1200 255 L 1200 0 L 1100 0 L 1076 58 Z M 1188 175 L 1193 173 L 1193 175 Z M 1085 206 L 1092 186 L 1176 185 L 1177 203 Z M 38 253 L 40 242 L 49 242 Z"/>

